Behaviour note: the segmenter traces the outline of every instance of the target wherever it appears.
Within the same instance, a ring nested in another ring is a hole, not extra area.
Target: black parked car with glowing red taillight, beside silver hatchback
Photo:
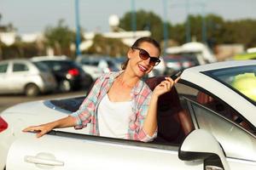
[[[61,92],[68,92],[80,88],[88,89],[93,82],[92,77],[73,60],[66,56],[42,56],[33,57],[35,63],[47,65],[58,82]]]

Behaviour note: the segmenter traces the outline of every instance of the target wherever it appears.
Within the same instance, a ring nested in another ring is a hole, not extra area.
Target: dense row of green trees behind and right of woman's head
[[[139,10],[137,16],[137,30],[149,30],[158,41],[163,41],[163,21],[157,14]],[[172,26],[167,23],[168,37],[179,44],[186,42],[187,20]],[[235,20],[225,21],[216,14],[207,14],[204,18],[201,15],[189,15],[190,35],[196,41],[203,41],[203,26],[207,42],[210,46],[219,43],[242,43],[245,47],[256,45],[256,20]],[[131,31],[131,12],[126,13],[120,19],[120,27]]]

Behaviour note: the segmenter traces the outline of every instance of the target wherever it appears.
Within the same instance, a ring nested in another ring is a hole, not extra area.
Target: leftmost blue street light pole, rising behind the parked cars
[[[81,54],[80,52],[80,24],[79,24],[79,0],[75,0],[75,18],[76,18],[76,56]]]

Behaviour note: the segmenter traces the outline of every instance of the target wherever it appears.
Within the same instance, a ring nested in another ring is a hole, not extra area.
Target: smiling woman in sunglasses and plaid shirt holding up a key
[[[26,127],[23,132],[43,136],[54,128],[83,128],[111,138],[153,140],[157,133],[157,101],[178,81],[166,77],[152,92],[141,79],[160,63],[160,45],[150,37],[137,39],[127,53],[123,71],[99,77],[79,111],[55,122]]]

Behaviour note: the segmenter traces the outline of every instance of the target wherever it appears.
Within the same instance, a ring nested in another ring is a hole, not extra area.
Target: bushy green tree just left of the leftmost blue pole
[[[47,45],[54,48],[55,54],[72,54],[70,45],[75,42],[75,32],[65,25],[64,20],[59,20],[56,27],[48,26],[44,35]]]

